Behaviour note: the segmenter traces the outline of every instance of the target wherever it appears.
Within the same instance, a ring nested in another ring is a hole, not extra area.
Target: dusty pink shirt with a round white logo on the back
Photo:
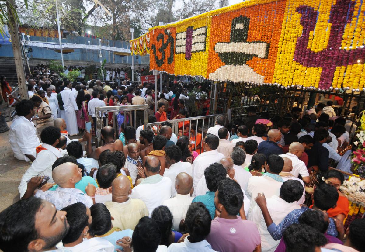
[[[261,244],[260,233],[254,222],[216,217],[212,220],[210,233],[206,238],[212,249],[220,252],[252,252]]]

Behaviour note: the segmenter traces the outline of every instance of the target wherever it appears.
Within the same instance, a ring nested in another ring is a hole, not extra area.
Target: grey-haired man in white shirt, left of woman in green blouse
[[[242,164],[245,163],[246,153],[240,147],[234,147],[231,152],[231,158],[233,159],[234,177],[241,189],[246,191],[249,179],[252,177],[251,173],[242,167]]]

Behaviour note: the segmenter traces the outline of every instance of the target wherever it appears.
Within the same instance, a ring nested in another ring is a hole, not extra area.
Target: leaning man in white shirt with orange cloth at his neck
[[[24,173],[18,187],[20,198],[27,190],[27,181],[35,176],[49,176],[49,183],[53,183],[52,165],[54,161],[66,154],[65,150],[55,148],[59,143],[61,133],[56,127],[47,127],[41,132],[42,146],[37,149],[37,158]]]

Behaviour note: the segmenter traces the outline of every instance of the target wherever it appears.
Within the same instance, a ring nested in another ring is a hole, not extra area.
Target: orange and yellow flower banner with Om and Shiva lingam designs
[[[247,0],[153,27],[145,46],[150,69],[213,81],[364,88],[361,7],[362,0]]]

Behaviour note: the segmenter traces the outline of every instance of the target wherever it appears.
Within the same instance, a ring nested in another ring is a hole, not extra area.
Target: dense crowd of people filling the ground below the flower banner
[[[9,142],[15,158],[31,165],[20,201],[0,213],[0,249],[365,251],[365,219],[343,227],[349,201],[338,170],[351,168],[351,132],[330,102],[283,118],[252,106],[240,125],[217,115],[207,131],[186,121],[176,135],[168,118],[191,114],[185,102],[194,87],[197,99],[207,97],[207,83],[170,83],[154,111],[158,92],[149,84],[30,79]],[[138,111],[95,115],[95,107],[128,104],[150,105],[148,121],[161,125],[144,128]],[[93,130],[82,126],[94,127],[96,116],[107,126],[103,145],[93,148]],[[134,118],[138,128],[130,126]],[[79,129],[82,137],[70,139]],[[338,170],[329,168],[334,163]],[[312,171],[323,175],[318,184]]]

